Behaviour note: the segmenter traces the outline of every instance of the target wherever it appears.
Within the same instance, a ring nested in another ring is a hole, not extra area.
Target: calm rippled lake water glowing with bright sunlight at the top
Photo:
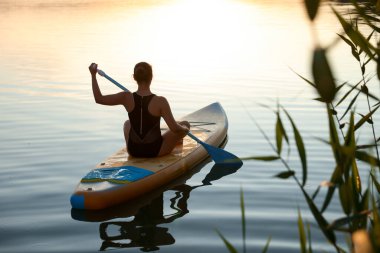
[[[246,161],[196,187],[212,171],[208,163],[171,190],[107,212],[76,212],[69,198],[88,170],[123,145],[126,113],[94,103],[91,62],[130,89],[134,64],[150,62],[152,88],[177,117],[221,102],[226,149],[238,156],[273,154],[250,117],[273,137],[275,115],[261,104],[274,109],[278,100],[305,138],[308,189],[327,180],[329,149],[314,138],[327,138],[324,108],[292,72],[310,77],[313,41],[302,1],[1,0],[0,16],[1,252],[227,252],[216,229],[242,249],[240,189],[248,250],[261,251],[271,237],[270,252],[299,252],[297,208],[314,222],[295,183],[273,178],[284,170],[275,162]],[[328,6],[315,29],[324,45],[336,37]],[[359,80],[343,43],[329,56],[339,80]],[[99,83],[104,93],[118,91]],[[290,158],[300,173],[295,149]],[[339,214],[337,203],[327,212]],[[333,250],[318,229],[312,233],[315,249]]]

